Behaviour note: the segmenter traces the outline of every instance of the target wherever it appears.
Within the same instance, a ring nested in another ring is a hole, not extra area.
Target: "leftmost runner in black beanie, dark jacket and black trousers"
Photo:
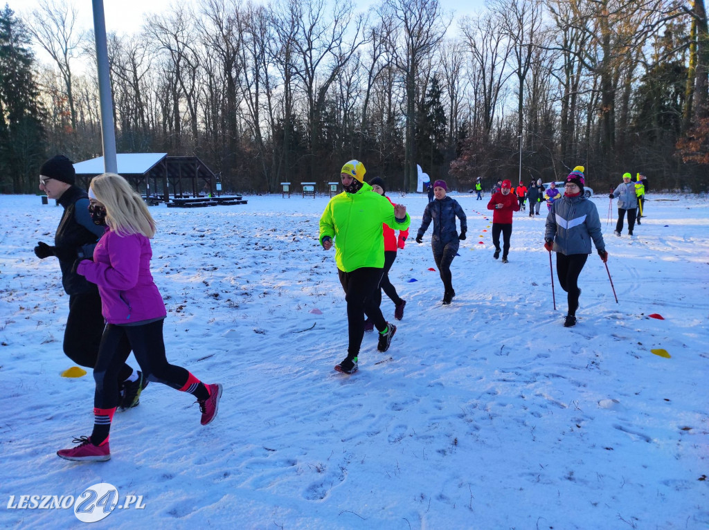
[[[74,261],[91,259],[94,247],[106,229],[97,225],[89,213],[89,196],[74,186],[76,173],[72,162],[58,154],[40,169],[40,190],[55,199],[64,215],[57,227],[54,245],[38,242],[35,255],[40,259],[56,256],[62,269],[62,286],[69,295],[69,317],[64,331],[64,353],[75,363],[94,368],[99,354],[101,335],[104,334],[104,317],[101,315],[101,296],[96,284],[77,274]],[[123,408],[138,405],[143,390],[143,374],[123,363],[118,375],[123,391]],[[130,402],[128,402],[130,400]]]

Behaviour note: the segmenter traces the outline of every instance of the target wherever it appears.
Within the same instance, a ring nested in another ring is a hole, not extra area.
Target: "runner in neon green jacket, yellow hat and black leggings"
[[[406,206],[392,207],[386,197],[369,193],[372,186],[364,182],[364,164],[350,160],[340,171],[342,188],[339,195],[330,199],[320,217],[320,244],[330,250],[335,244],[335,263],[347,301],[347,326],[350,343],[347,357],[335,366],[343,373],[357,371],[359,346],[364,337],[364,315],[379,331],[379,351],[386,351],[396,326],[386,322],[374,303],[374,292],[384,272],[384,234],[381,224],[394,230],[406,230],[411,217]]]

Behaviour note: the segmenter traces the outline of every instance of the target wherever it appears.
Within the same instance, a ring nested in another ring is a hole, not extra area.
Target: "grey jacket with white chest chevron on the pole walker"
[[[562,196],[554,201],[544,239],[554,239],[554,252],[565,256],[591,254],[591,239],[598,252],[605,251],[598,210],[583,196]]]

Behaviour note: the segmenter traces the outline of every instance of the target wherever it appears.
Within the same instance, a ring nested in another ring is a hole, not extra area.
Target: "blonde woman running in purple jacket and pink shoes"
[[[165,359],[165,306],[150,274],[150,238],[155,234],[155,221],[143,199],[122,176],[107,173],[91,181],[89,203],[92,213],[105,209],[108,225],[96,244],[94,260],[77,264],[77,273],[99,287],[106,319],[94,367],[94,430],[91,436],[75,439],[78,446],[57,451],[57,455],[67,460],[106,461],[111,458],[108,434],[118,405],[116,371],[131,350],[147,380],[196,397],[203,425],[216,416],[222,385],[205,385]]]

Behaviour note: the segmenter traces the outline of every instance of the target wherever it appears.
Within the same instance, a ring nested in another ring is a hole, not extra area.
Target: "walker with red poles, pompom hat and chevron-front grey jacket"
[[[547,215],[544,247],[557,253],[557,276],[566,291],[568,310],[565,327],[576,325],[579,308],[579,275],[591,254],[591,239],[603,263],[608,260],[596,205],[584,197],[584,174],[571,171],[566,177],[564,196],[554,201]]]

